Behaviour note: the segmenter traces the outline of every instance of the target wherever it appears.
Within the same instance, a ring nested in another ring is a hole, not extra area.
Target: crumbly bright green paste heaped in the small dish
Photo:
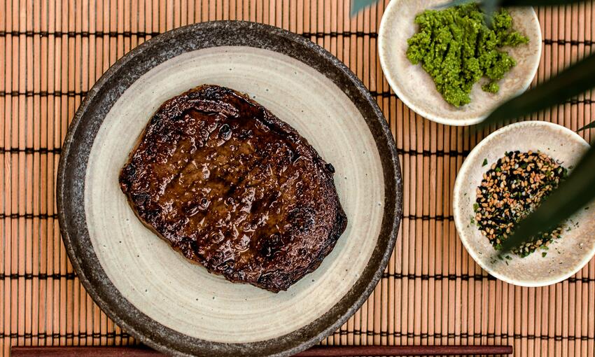
[[[407,58],[412,64],[421,63],[437,91],[454,106],[468,104],[473,84],[484,76],[489,83],[482,89],[498,92],[498,80],[517,64],[501,48],[529,41],[512,30],[512,18],[505,9],[493,15],[490,29],[475,3],[426,10],[415,23],[419,32],[407,40]]]

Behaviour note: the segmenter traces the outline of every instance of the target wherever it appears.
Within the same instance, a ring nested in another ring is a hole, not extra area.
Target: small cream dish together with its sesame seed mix
[[[507,283],[547,286],[587,265],[595,255],[595,202],[520,250],[500,257],[497,249],[512,231],[506,226],[538,205],[527,202],[547,197],[588,149],[572,130],[540,121],[507,125],[473,148],[452,197],[456,231],[479,266]]]

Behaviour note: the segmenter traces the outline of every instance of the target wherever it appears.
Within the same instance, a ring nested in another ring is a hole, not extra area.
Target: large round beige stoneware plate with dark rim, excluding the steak
[[[321,267],[287,291],[192,264],[120,191],[120,169],[158,106],[202,84],[248,94],[336,169],[349,224]],[[80,281],[134,337],[171,354],[289,356],[339,328],[372,292],[395,244],[402,185],[386,120],[342,62],[275,27],[208,22],[152,38],[97,81],[66,136],[57,200]]]

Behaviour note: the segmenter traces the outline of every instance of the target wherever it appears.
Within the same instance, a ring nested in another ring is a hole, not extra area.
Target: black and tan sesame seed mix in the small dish
[[[483,165],[487,165],[486,160]],[[475,217],[471,223],[477,223],[482,235],[500,249],[514,224],[538,207],[567,174],[566,168],[544,153],[505,153],[484,173],[482,184],[477,187]],[[526,257],[537,248],[546,250],[554,239],[561,237],[561,232],[562,227],[557,227],[541,233],[512,252]]]

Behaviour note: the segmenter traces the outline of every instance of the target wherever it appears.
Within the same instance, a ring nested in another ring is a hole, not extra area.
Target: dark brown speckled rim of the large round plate
[[[377,244],[363,274],[329,311],[304,327],[261,342],[210,342],[167,328],[143,314],[113,286],[95,255],[87,231],[84,191],[87,160],[99,127],[120,95],[142,74],[183,52],[222,45],[248,45],[281,52],[332,80],[358,107],[376,140],[384,173],[384,216]],[[372,293],[391,257],[402,217],[400,165],[391,130],[370,92],[342,62],[307,38],[244,21],[202,22],[155,36],[113,64],[89,90],[62,146],[57,208],[66,252],[94,302],[120,327],[159,351],[177,355],[290,356],[337,330]]]

